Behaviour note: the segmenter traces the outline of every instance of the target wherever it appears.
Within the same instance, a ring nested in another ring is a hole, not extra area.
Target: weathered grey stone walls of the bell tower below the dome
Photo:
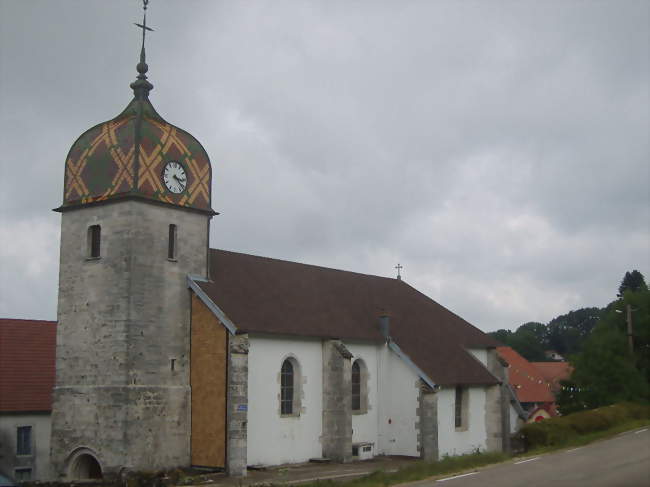
[[[169,224],[178,228],[175,260],[167,258]],[[206,274],[208,224],[209,216],[141,201],[62,214],[56,478],[79,448],[104,473],[189,464],[185,276]],[[101,226],[100,258],[88,256],[91,225]]]

